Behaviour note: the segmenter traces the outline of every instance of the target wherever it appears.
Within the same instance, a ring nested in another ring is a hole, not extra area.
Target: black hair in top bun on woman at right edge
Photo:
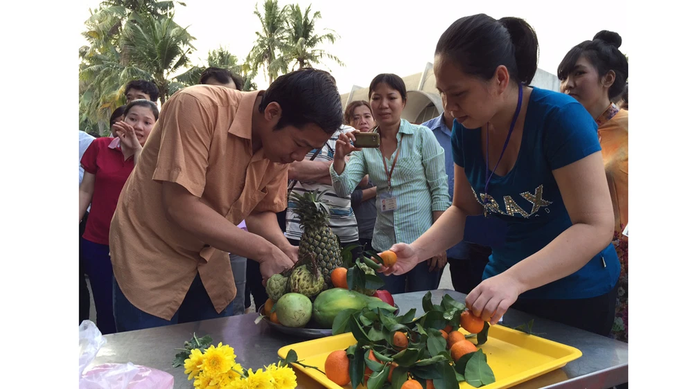
[[[557,75],[559,80],[568,78],[575,68],[575,63],[584,56],[597,69],[600,78],[608,71],[616,75],[613,84],[608,89],[608,98],[613,100],[623,93],[628,80],[628,60],[618,49],[621,46],[621,36],[612,31],[602,30],[591,41],[585,41],[568,51],[559,64]]]

